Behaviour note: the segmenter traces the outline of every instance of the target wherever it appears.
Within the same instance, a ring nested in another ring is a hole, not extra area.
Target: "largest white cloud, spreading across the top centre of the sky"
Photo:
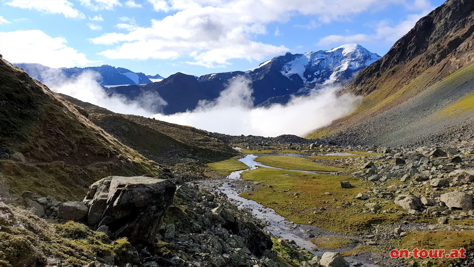
[[[94,44],[118,44],[100,55],[117,59],[169,59],[191,56],[191,64],[230,65],[233,58],[263,60],[289,49],[255,41],[266,25],[287,22],[294,15],[313,15],[321,23],[347,20],[351,15],[385,5],[382,1],[149,1],[155,11],[177,10],[150,27],[120,25],[129,33],[106,33]],[[316,22],[315,22],[316,23]]]

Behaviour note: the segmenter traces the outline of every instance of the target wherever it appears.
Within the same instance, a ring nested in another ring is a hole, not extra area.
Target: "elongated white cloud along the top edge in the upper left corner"
[[[50,14],[63,14],[66,18],[85,19],[85,15],[77,9],[73,9],[73,3],[67,0],[12,0],[6,5]]]

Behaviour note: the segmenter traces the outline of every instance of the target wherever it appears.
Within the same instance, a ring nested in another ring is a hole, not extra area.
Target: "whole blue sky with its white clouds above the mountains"
[[[2,0],[0,54],[146,75],[245,70],[286,52],[358,43],[385,54],[438,0]]]

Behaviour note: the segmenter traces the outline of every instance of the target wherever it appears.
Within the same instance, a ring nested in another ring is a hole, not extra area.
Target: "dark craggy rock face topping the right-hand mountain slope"
[[[418,68],[424,70],[441,62],[453,51],[462,54],[469,45],[461,46],[472,38],[474,2],[470,0],[448,0],[437,9],[421,18],[413,29],[400,38],[380,60],[362,70],[346,87],[346,91],[367,94],[376,87],[368,86],[371,78],[391,68],[422,56]],[[416,75],[410,72],[407,78]]]

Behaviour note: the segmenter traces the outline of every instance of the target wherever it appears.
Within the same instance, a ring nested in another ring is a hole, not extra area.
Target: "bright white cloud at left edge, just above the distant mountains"
[[[57,68],[86,66],[91,62],[66,43],[66,39],[52,38],[41,30],[0,32],[0,53],[12,63],[40,63]]]

